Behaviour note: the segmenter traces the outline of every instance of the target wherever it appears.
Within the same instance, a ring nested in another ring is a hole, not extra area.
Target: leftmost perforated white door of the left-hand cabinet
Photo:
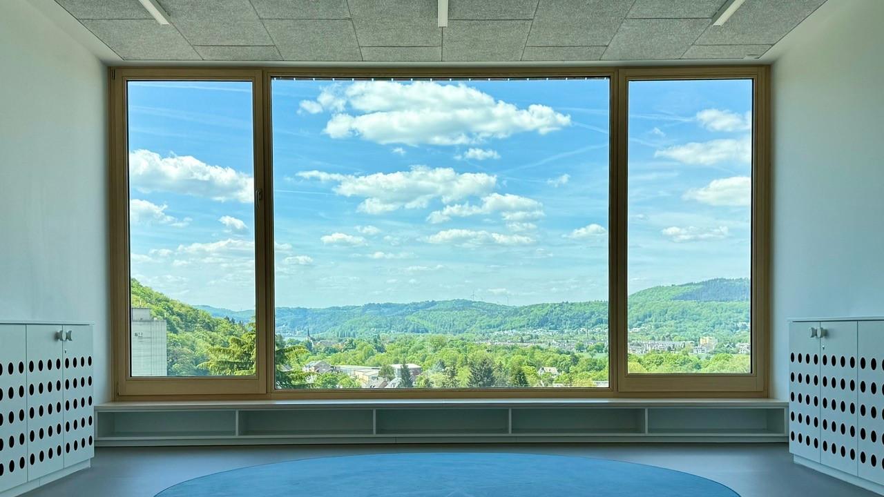
[[[25,326],[0,325],[0,493],[27,483]]]

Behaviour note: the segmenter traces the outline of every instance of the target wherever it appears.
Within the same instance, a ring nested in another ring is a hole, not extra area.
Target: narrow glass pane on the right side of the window
[[[751,80],[629,83],[629,372],[751,370]]]

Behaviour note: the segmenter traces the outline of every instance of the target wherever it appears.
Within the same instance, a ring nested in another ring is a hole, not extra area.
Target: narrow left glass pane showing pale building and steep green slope
[[[132,376],[255,374],[252,83],[128,84]]]

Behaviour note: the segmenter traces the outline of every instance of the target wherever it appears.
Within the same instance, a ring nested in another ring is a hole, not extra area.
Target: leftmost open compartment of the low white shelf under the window
[[[184,439],[232,437],[235,410],[99,411],[100,439]]]

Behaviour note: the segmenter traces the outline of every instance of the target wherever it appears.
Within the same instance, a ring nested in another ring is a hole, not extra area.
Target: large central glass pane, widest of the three
[[[278,388],[607,386],[608,80],[274,80]]]

